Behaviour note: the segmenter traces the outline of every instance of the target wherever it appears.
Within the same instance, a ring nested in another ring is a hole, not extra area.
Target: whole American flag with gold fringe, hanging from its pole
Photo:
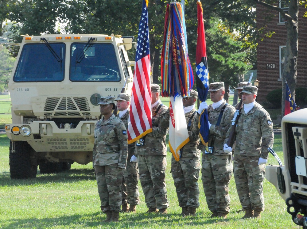
[[[128,120],[128,143],[133,143],[152,132],[150,55],[148,29],[148,1],[143,0],[142,15],[138,29],[138,43],[135,54],[134,81]]]

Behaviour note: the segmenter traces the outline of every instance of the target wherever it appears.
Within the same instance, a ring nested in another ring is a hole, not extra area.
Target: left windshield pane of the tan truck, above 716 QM
[[[63,81],[65,66],[65,44],[50,43],[60,57],[58,61],[46,44],[25,44],[14,74],[14,82]]]

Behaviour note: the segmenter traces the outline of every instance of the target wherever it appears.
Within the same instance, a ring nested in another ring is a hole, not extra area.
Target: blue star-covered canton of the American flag
[[[148,12],[146,2],[143,1],[142,15],[140,26],[138,28],[138,43],[135,55],[135,61],[149,55],[149,29],[148,29]]]

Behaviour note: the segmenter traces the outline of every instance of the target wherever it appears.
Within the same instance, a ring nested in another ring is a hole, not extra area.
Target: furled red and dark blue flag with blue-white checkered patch
[[[197,2],[197,44],[196,44],[196,89],[200,101],[206,101],[208,94],[209,71],[207,65],[206,38],[201,2]],[[204,109],[199,118],[199,136],[204,146],[208,146],[209,126],[208,110]]]

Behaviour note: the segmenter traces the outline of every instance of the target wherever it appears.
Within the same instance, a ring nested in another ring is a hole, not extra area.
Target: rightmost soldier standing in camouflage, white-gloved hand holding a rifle
[[[255,103],[257,87],[244,86],[243,108],[235,128],[234,177],[237,192],[245,211],[243,219],[260,218],[264,210],[262,182],[265,177],[265,164],[268,148],[273,146],[273,124],[269,113]],[[227,141],[224,151],[231,151]]]

